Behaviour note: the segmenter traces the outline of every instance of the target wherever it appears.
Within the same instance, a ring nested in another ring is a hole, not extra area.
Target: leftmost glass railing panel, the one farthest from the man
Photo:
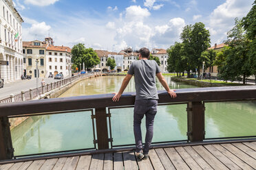
[[[94,148],[92,110],[10,118],[14,156]]]

